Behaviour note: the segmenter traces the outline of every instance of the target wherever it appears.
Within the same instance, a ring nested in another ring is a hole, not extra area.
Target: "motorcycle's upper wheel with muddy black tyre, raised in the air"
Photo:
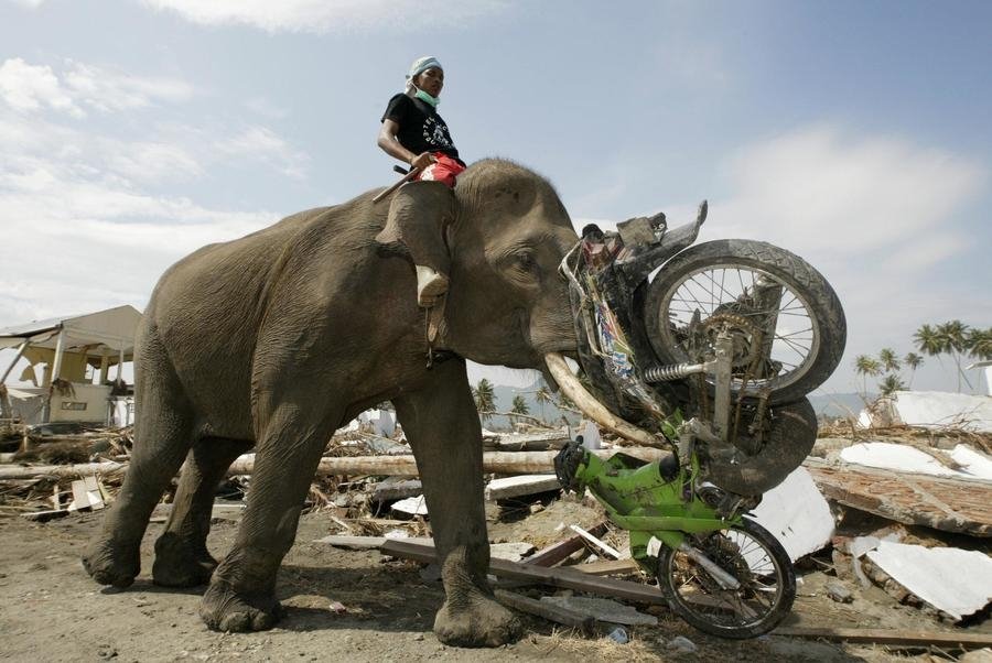
[[[756,305],[756,284],[780,286],[770,304]],[[692,328],[712,318],[757,323],[775,316],[770,348],[762,349],[765,374],[747,391],[770,389],[772,403],[788,403],[823,383],[840,362],[847,322],[837,293],[805,260],[766,242],[718,240],[691,247],[667,262],[648,286],[644,319],[648,339],[666,363],[696,362]],[[714,317],[720,316],[720,317]],[[769,325],[770,326],[770,325]],[[740,333],[737,347],[750,343]],[[740,390],[742,367],[735,367]]]

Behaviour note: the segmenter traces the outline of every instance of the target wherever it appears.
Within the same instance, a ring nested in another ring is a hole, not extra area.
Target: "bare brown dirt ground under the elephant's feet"
[[[572,510],[574,515],[574,508]],[[492,522],[490,539],[521,534],[544,541],[561,513],[554,503],[515,524]],[[587,518],[595,518],[590,513]],[[97,531],[101,513],[74,514],[45,524],[0,519],[0,657],[13,661],[889,661],[947,660],[936,652],[892,652],[880,646],[844,646],[768,635],[732,642],[707,637],[667,610],[654,608],[657,627],[627,628],[630,641],[585,637],[524,617],[526,634],[496,650],[442,645],[431,632],[443,599],[440,583],[424,580],[421,565],[378,552],[338,550],[314,540],[336,533],[326,512],[301,519],[296,544],[279,575],[278,594],[287,615],[260,633],[216,633],[197,616],[200,590],[152,585],[152,544],[161,523],[144,539],[142,573],[126,590],[101,588],[84,573],[79,555]],[[584,519],[580,519],[584,520]],[[573,521],[574,522],[574,521]],[[526,526],[524,526],[526,523]],[[586,523],[589,524],[589,523]],[[521,530],[521,526],[524,528]],[[216,556],[234,540],[231,520],[215,520],[209,546]],[[520,540],[519,537],[516,540]],[[533,541],[533,543],[544,543]],[[949,630],[918,610],[855,590],[853,604],[833,602],[818,590],[813,574],[800,585],[784,626]],[[344,606],[335,611],[333,602]],[[972,627],[988,632],[986,624]],[[672,652],[675,637],[690,639],[694,654]]]

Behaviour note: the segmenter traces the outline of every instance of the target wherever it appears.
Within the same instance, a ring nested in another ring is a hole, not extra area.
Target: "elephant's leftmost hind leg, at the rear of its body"
[[[97,583],[116,587],[129,586],[141,569],[148,519],[192,444],[192,410],[154,329],[144,340],[128,474],[100,533],[83,556],[83,566]]]

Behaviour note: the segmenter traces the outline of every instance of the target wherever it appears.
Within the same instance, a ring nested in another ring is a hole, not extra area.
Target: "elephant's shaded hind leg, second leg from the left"
[[[217,562],[207,552],[206,537],[211,531],[217,482],[234,459],[252,444],[205,437],[193,445],[183,466],[165,531],[155,541],[152,567],[155,585],[195,587],[209,582]]]

